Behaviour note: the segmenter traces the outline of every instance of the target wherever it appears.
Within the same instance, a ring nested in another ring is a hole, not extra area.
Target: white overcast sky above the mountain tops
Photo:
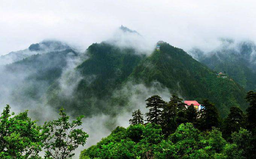
[[[210,49],[256,40],[255,0],[0,0],[0,55],[58,39],[86,49],[123,24],[151,42]]]

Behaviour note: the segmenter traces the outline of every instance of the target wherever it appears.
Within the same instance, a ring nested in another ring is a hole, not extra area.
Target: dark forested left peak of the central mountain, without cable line
[[[58,85],[50,89],[49,104],[60,107],[67,105],[79,110],[75,113],[92,115],[97,113],[115,114],[124,107],[122,97],[113,98],[113,92],[120,89],[145,55],[136,54],[135,49],[120,49],[112,44],[94,43],[86,51],[88,59],[77,66],[82,76],[74,88],[72,99],[59,96]],[[58,90],[58,91],[56,91]]]

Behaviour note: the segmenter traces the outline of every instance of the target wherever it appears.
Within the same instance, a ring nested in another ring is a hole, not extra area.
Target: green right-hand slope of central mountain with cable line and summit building
[[[147,84],[159,81],[187,100],[201,102],[207,98],[216,104],[222,116],[232,106],[240,105],[243,110],[247,107],[242,87],[230,79],[218,78],[207,66],[168,43],[161,44],[160,51],[140,63],[130,77]]]

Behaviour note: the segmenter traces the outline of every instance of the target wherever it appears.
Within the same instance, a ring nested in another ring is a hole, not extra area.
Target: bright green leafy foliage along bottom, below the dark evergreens
[[[129,129],[136,129],[139,125],[131,125]],[[143,125],[139,127],[144,127]],[[127,133],[130,130],[127,128]],[[139,132],[141,133],[141,132]],[[176,131],[164,139],[161,127],[148,123],[145,125],[142,138],[133,142],[130,138],[112,140],[108,144],[97,144],[83,150],[80,159],[88,158],[140,158],[140,159],[228,159],[242,156],[242,151],[236,144],[229,144],[222,137],[219,129],[212,129],[206,134],[191,123],[180,124]],[[106,138],[112,138],[113,132]],[[129,135],[124,135],[129,136]],[[102,142],[102,140],[100,141]],[[100,143],[99,142],[99,143]],[[232,150],[238,150],[232,152]]]

